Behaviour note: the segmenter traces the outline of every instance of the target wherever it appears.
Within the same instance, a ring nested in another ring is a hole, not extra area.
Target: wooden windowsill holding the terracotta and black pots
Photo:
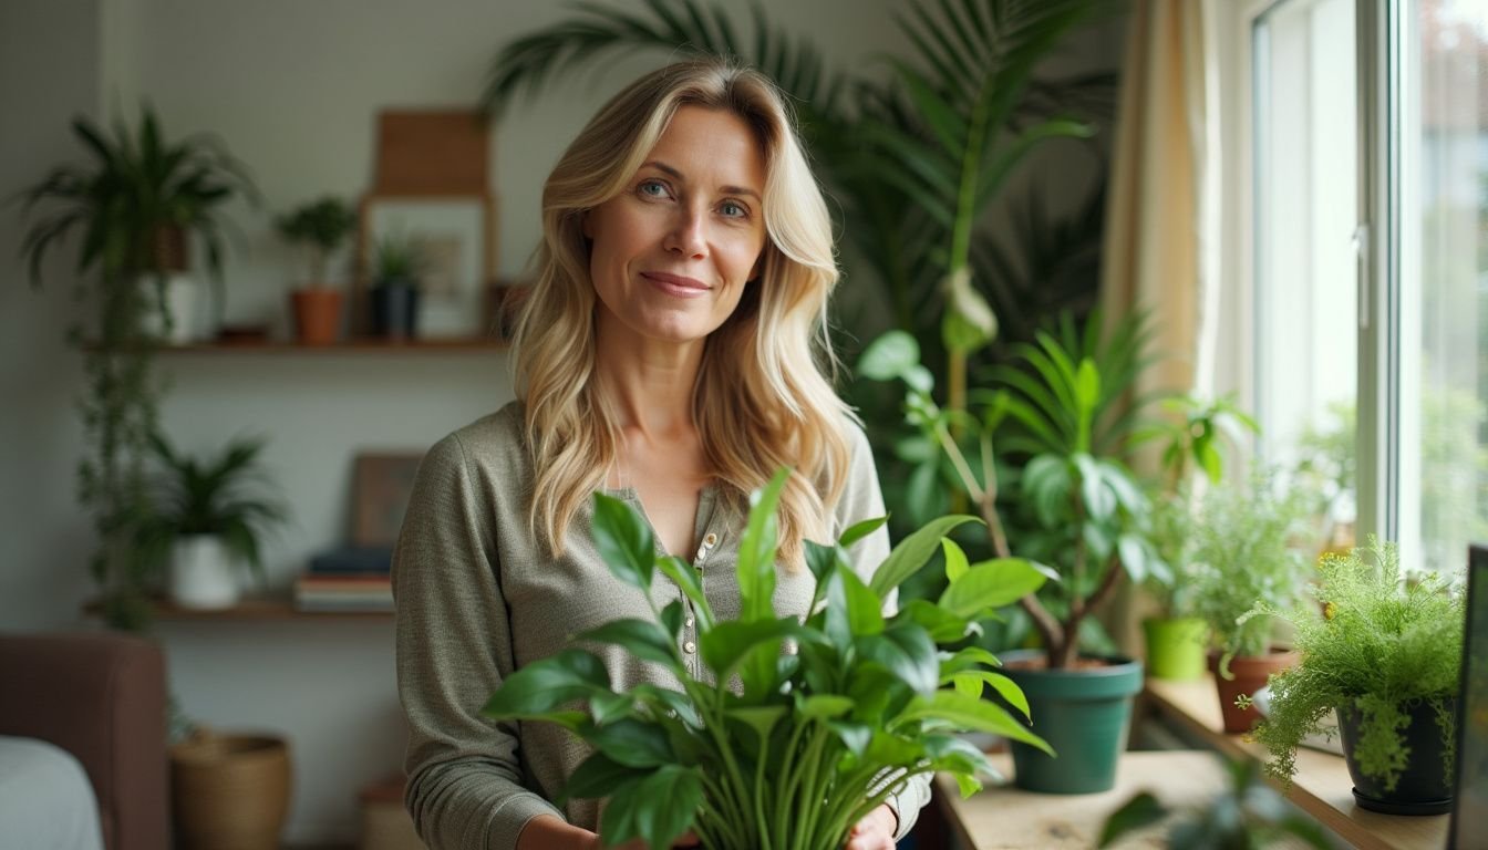
[[[1147,680],[1149,710],[1231,758],[1265,759],[1265,750],[1241,735],[1226,735],[1219,697],[1210,676],[1193,682]],[[1344,758],[1312,749],[1298,750],[1298,776],[1287,793],[1298,808],[1360,850],[1437,850],[1446,846],[1446,814],[1397,816],[1366,811],[1354,804],[1354,783]]]

